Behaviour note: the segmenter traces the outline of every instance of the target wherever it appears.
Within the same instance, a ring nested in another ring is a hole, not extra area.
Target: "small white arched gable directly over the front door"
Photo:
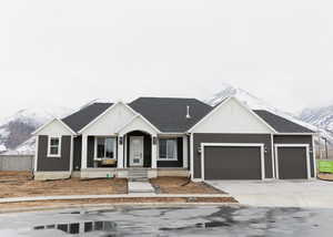
[[[141,115],[137,115],[131,122],[123,126],[119,131],[119,134],[124,135],[133,131],[141,131],[153,135],[157,135],[157,133],[159,132],[155,127],[149,124],[149,122],[145,121]]]

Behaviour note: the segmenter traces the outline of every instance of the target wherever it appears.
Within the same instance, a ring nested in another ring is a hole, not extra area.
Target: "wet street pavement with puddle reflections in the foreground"
[[[332,236],[333,209],[117,207],[0,215],[0,236]]]

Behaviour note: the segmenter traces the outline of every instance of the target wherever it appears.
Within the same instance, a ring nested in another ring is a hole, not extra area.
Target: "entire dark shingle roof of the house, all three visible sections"
[[[62,122],[79,132],[112,105],[93,103],[64,117]],[[196,99],[182,97],[139,97],[128,105],[163,133],[184,133],[214,109]],[[186,106],[190,106],[191,118],[186,118]],[[253,112],[279,133],[314,133],[269,111]]]

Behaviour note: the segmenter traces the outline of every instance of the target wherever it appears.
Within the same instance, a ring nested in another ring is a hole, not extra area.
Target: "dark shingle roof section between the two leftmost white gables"
[[[94,103],[90,104],[82,110],[64,117],[62,121],[71,127],[74,132],[79,132],[87,124],[102,114],[108,107],[110,107],[111,103]]]

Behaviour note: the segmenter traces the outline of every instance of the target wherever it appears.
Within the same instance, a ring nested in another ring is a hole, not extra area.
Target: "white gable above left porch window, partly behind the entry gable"
[[[137,114],[123,103],[117,103],[90,124],[82,134],[108,136],[129,123]]]

